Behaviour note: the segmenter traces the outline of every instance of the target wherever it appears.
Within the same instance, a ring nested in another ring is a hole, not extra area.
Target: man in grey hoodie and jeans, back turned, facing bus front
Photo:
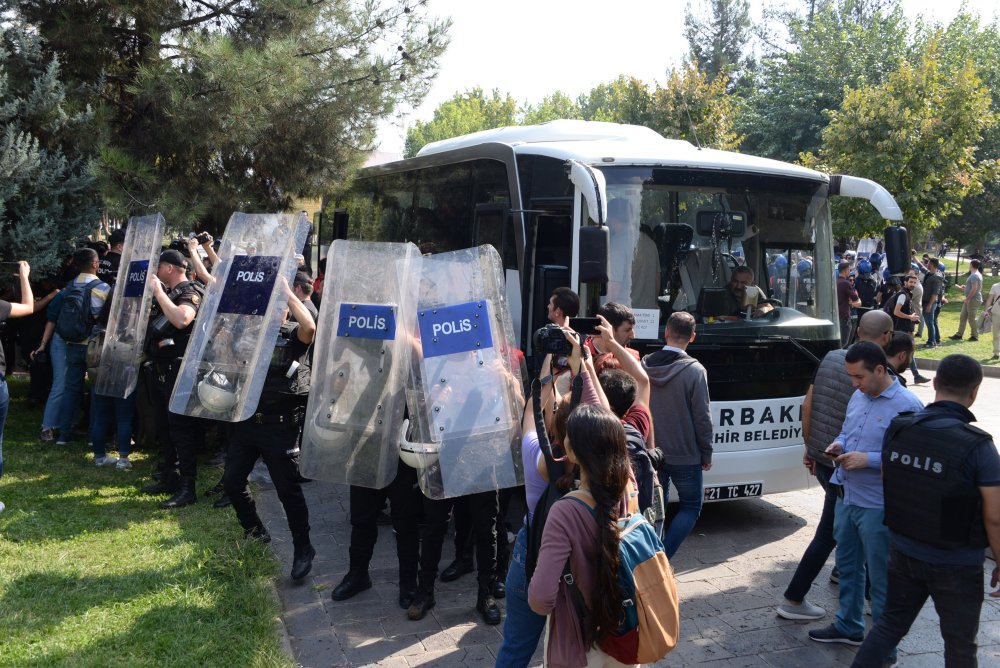
[[[656,445],[663,451],[659,471],[663,496],[667,497],[672,480],[680,499],[680,510],[663,538],[670,558],[701,515],[702,472],[712,468],[708,376],[705,367],[686,352],[694,341],[694,330],[690,313],[674,313],[663,334],[667,345],[642,359],[650,381],[649,407]]]

